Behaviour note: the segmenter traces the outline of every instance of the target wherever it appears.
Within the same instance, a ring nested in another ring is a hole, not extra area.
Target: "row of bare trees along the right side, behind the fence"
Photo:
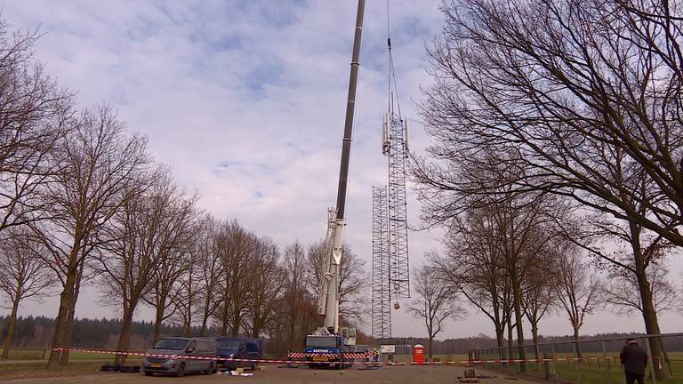
[[[421,104],[433,140],[413,166],[425,227],[447,232],[417,275],[444,284],[419,292],[428,328],[458,295],[490,318],[499,347],[517,339],[521,358],[523,324],[536,341],[552,311],[575,339],[599,303],[660,333],[680,292],[666,260],[683,245],[683,4],[441,9]],[[659,338],[651,347],[663,355]]]

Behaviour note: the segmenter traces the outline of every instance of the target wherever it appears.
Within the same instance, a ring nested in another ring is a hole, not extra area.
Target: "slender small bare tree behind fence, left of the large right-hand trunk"
[[[572,244],[565,244],[559,250],[558,272],[558,301],[565,309],[569,323],[572,324],[574,340],[578,341],[583,320],[591,315],[599,302],[598,280],[591,276],[581,253]],[[580,358],[582,355],[578,343],[575,343],[575,348]]]

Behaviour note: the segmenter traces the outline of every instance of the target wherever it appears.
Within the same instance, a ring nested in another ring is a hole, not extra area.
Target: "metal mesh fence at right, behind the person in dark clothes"
[[[646,380],[683,384],[683,333],[474,349],[470,360],[486,369],[550,381],[621,384],[624,374],[619,354],[628,339],[636,340],[647,351]]]

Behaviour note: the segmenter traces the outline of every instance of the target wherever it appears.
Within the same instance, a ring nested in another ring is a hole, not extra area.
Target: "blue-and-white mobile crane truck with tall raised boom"
[[[327,233],[325,235],[325,256],[322,266],[323,278],[317,300],[317,312],[325,315],[324,326],[319,327],[306,337],[305,361],[311,367],[329,365],[342,369],[352,364],[356,350],[356,328],[339,327],[339,285],[342,265],[342,231],[344,228],[344,208],[349,176],[351,152],[351,132],[353,130],[353,113],[356,103],[358,84],[358,67],[360,66],[360,40],[363,32],[363,16],[365,0],[358,0],[356,30],[353,39],[351,69],[349,80],[349,97],[346,104],[346,119],[342,140],[342,164],[339,171],[336,208],[330,208],[327,217]]]

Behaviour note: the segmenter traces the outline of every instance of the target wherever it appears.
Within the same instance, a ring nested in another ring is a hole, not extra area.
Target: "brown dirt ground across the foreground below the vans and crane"
[[[482,379],[481,384],[530,384],[527,380],[505,379],[499,373],[477,370],[478,375],[497,376],[495,379]],[[389,366],[373,371],[363,371],[350,368],[342,371],[312,370],[309,368],[277,368],[276,365],[267,365],[264,370],[254,372],[252,377],[234,377],[223,374],[189,375],[184,378],[175,377],[145,377],[142,373],[109,373],[98,372],[93,374],[77,375],[72,377],[54,377],[42,379],[10,380],[12,384],[40,383],[40,384],[79,384],[79,383],[349,383],[354,384],[395,384],[404,383],[433,383],[453,384],[458,383],[457,377],[463,376],[462,367],[454,366]]]

